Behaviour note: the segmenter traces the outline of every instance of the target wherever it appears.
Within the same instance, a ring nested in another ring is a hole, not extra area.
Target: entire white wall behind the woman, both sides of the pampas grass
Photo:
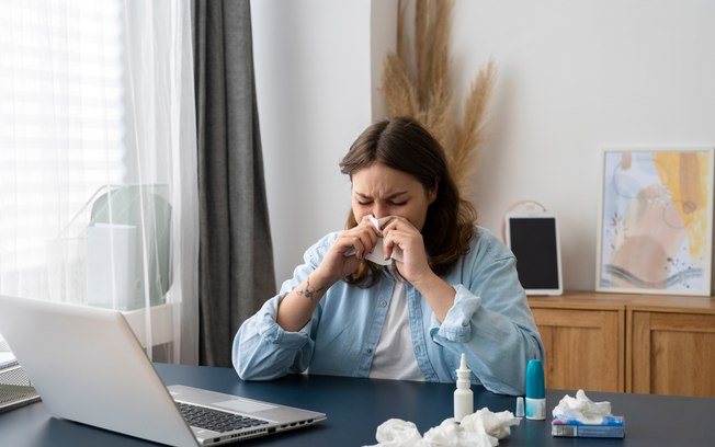
[[[344,224],[349,183],[337,163],[382,116],[375,89],[395,2],[251,5],[280,283]],[[511,205],[537,200],[559,217],[566,288],[593,289],[600,148],[715,144],[713,18],[706,0],[457,0],[456,92],[489,57],[499,68],[473,197],[481,225],[500,233]]]

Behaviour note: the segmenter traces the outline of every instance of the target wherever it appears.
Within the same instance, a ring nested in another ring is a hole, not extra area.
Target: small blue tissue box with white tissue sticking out
[[[625,420],[611,414],[611,402],[593,402],[583,390],[578,390],[576,398],[566,394],[554,408],[553,415],[552,436],[624,436]]]

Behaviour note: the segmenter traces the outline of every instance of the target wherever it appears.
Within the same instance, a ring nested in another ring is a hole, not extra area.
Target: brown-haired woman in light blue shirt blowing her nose
[[[543,345],[515,260],[475,225],[440,144],[410,118],[387,119],[363,131],[340,168],[352,182],[348,229],[309,248],[241,325],[239,377],[309,369],[454,382],[465,353],[473,382],[523,394],[526,364]],[[381,247],[388,266],[366,260]]]

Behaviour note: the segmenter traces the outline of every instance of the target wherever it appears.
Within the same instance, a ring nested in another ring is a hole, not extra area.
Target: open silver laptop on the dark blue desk
[[[171,446],[230,443],[326,419],[238,396],[166,387],[118,311],[2,295],[0,309],[0,333],[55,416]],[[230,421],[218,428],[184,420],[195,412]]]

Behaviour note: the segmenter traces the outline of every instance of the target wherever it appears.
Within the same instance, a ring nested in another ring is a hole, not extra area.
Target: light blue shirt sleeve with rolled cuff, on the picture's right
[[[432,341],[452,358],[465,353],[475,378],[490,391],[523,394],[526,364],[543,358],[544,349],[513,254],[483,231],[462,270],[447,279],[456,295],[444,321],[432,321]]]

